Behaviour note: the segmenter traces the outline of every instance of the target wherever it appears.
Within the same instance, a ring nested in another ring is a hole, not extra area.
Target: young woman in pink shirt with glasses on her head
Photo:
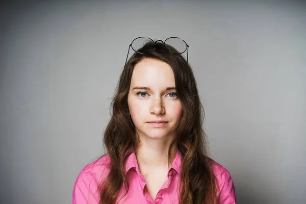
[[[236,203],[230,173],[208,157],[197,85],[182,52],[166,41],[149,39],[140,49],[133,42],[105,131],[107,154],[80,172],[72,204]]]

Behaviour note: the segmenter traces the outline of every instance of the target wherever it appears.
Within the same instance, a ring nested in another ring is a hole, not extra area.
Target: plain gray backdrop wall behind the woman
[[[70,203],[138,36],[178,36],[238,203],[305,203],[302,1],[1,3],[1,203]]]

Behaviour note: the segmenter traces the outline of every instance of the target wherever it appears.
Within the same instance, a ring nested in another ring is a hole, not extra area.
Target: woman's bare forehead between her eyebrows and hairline
[[[169,64],[155,59],[144,59],[134,67],[131,87],[175,87],[174,74]]]

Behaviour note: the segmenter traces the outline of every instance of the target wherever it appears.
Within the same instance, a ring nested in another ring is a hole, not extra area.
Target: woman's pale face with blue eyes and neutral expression
[[[165,62],[144,59],[135,65],[127,98],[139,137],[173,137],[182,116],[174,74]]]

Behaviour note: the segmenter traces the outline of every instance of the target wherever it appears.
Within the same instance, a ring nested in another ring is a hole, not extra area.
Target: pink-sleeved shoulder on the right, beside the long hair
[[[230,172],[216,161],[209,160],[218,183],[219,203],[236,203],[236,190]]]

